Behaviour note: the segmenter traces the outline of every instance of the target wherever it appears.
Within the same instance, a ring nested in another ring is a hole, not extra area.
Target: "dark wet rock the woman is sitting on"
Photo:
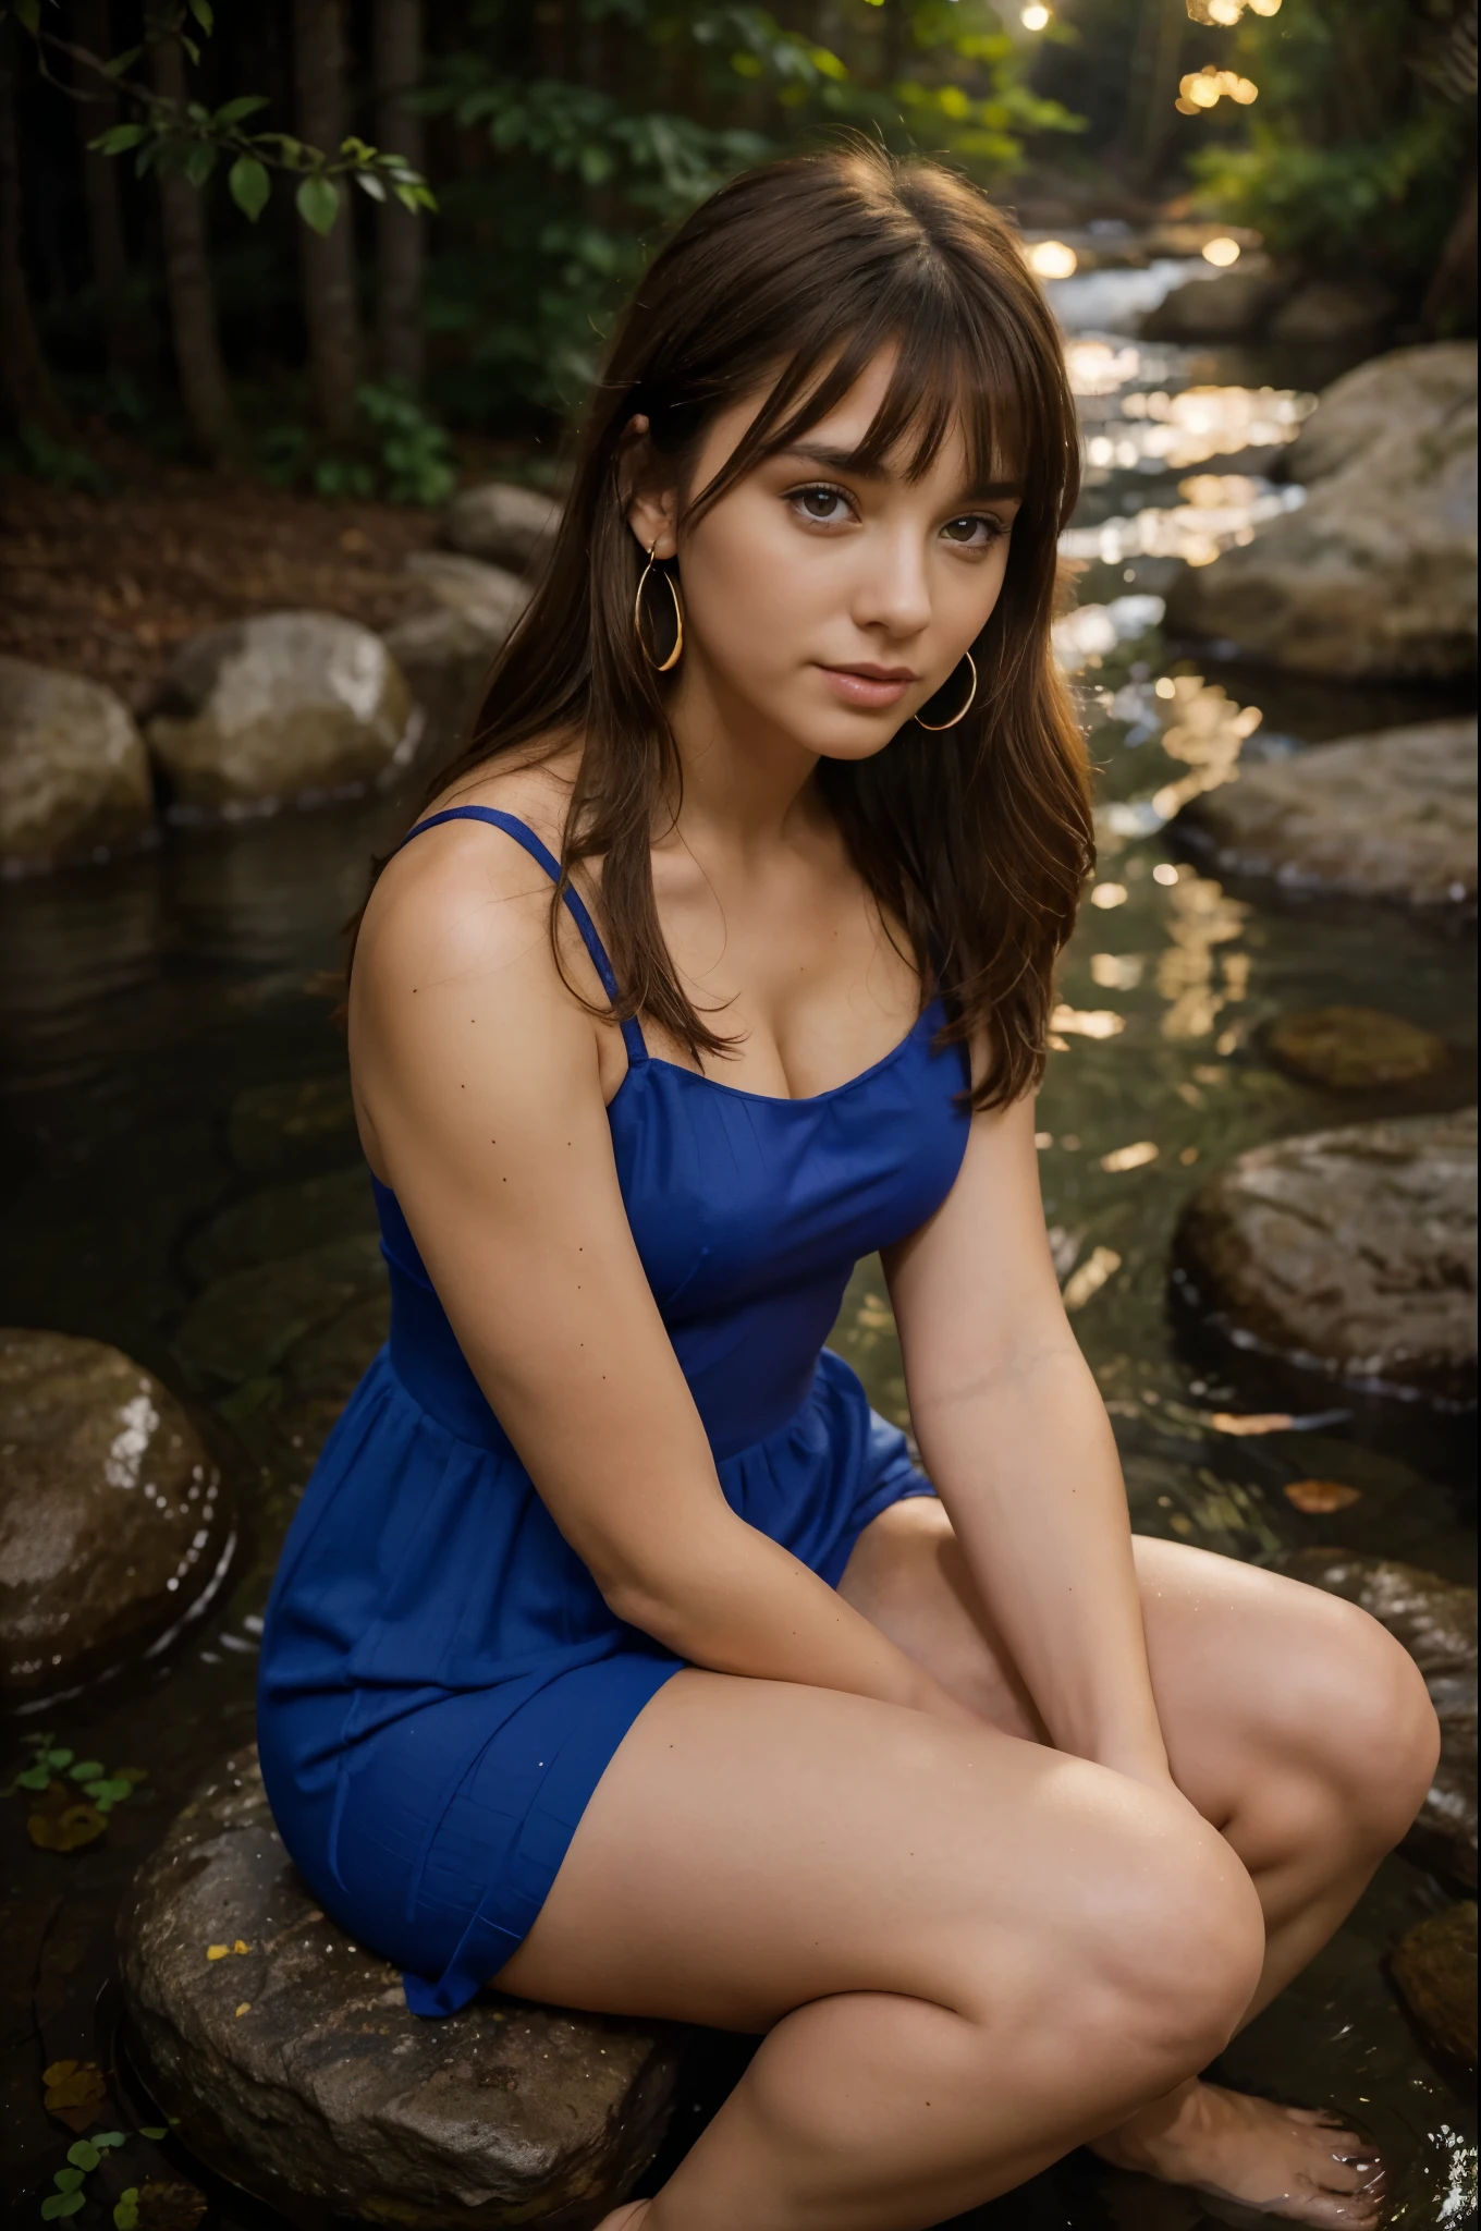
[[[178,2137],[294,2222],[587,2231],[662,2140],[656,2024],[493,1992],[417,2021],[397,1970],[314,1908],[254,1754],[145,1861],[118,1941],[132,2050]]]

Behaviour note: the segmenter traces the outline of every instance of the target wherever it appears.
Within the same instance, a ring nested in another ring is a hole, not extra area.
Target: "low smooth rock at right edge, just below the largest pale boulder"
[[[1477,723],[1423,721],[1245,765],[1178,814],[1222,875],[1410,906],[1474,906]]]

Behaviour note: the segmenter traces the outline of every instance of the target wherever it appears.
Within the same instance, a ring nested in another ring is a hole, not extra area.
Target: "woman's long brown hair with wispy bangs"
[[[502,752],[580,734],[551,935],[571,870],[600,857],[618,1015],[651,1015],[696,1057],[727,1051],[685,995],[654,904],[651,837],[680,763],[665,685],[633,636],[642,553],[625,518],[620,440],[645,413],[680,486],[683,556],[685,524],[825,417],[888,344],[894,377],[859,462],[908,446],[908,471],[923,473],[961,413],[972,473],[1019,480],[1024,504],[999,602],[972,645],[979,687],[966,721],[943,734],[908,723],[868,761],[821,761],[819,781],[859,875],[946,999],[948,1035],[990,1026],[993,1066],[975,1100],[997,1107],[1044,1069],[1053,964],[1093,861],[1084,745],[1048,640],[1080,446],[1059,337],[1013,230],[937,163],[874,147],[767,163],[720,187],[662,248],[611,341],[544,578],[493,669],[473,743],[428,801]],[[736,453],[687,493],[712,415],[767,382]]]

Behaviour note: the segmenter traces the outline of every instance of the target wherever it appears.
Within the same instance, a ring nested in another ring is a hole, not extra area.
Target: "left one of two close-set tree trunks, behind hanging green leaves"
[[[292,58],[299,138],[337,154],[346,136],[343,22],[339,0],[292,0]],[[328,234],[299,228],[308,373],[319,424],[341,440],[355,424],[359,317],[355,308],[355,223],[350,190]]]

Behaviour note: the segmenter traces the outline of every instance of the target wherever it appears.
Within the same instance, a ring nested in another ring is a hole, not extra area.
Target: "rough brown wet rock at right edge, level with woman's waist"
[[[1238,1345],[1378,1394],[1477,1394],[1477,1111],[1253,1147],[1178,1227]]]

